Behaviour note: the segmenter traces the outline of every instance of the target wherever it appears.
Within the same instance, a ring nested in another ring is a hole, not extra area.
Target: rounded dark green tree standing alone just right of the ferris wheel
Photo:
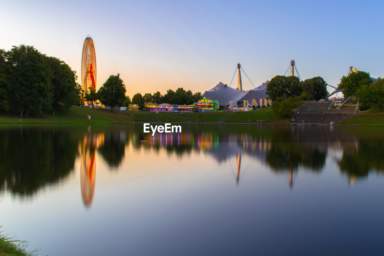
[[[126,91],[121,78],[118,75],[111,75],[98,91],[99,100],[104,105],[111,106],[111,111],[113,112],[115,106],[122,105],[124,100],[126,100]]]

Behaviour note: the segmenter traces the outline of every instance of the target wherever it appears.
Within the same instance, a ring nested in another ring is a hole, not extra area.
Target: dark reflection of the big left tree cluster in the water
[[[12,126],[0,130],[0,191],[32,196],[64,180],[78,154],[77,132],[61,126]]]

